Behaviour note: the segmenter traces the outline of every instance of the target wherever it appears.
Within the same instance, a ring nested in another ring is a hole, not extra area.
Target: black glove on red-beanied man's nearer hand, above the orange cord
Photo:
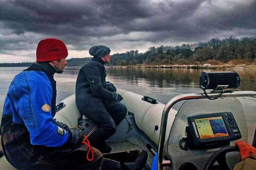
[[[83,136],[83,129],[80,129],[81,126],[78,128],[66,128],[68,132],[68,139],[65,144],[67,145],[80,145],[84,139]]]

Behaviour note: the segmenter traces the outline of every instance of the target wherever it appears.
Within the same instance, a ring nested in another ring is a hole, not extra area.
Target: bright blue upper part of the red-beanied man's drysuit
[[[13,123],[25,124],[33,145],[61,146],[68,134],[58,133],[53,122],[52,87],[44,72],[23,71],[11,82],[4,101],[3,114]],[[44,108],[42,108],[44,107]]]

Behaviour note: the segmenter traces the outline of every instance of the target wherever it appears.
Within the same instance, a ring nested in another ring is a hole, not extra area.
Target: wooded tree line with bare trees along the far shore
[[[87,58],[68,59],[68,66],[83,66],[90,61]],[[148,51],[139,53],[138,50],[113,54],[110,64],[113,66],[128,66],[140,64],[203,64],[213,65],[256,64],[256,37],[229,38],[220,40],[213,38],[208,42],[197,44],[183,44],[181,46],[150,47]],[[33,63],[0,63],[4,66],[30,66]]]

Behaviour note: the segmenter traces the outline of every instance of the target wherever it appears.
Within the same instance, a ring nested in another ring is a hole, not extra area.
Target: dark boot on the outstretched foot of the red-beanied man
[[[146,165],[148,152],[143,150],[139,157],[132,163],[120,163],[121,170],[141,170]]]

